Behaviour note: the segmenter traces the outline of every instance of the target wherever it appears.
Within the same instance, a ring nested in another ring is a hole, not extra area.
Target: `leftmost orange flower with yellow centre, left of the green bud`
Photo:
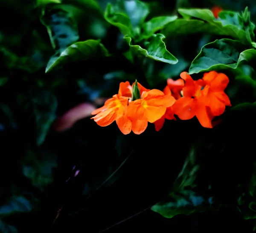
[[[116,124],[123,134],[131,133],[131,120],[127,118],[126,111],[128,106],[128,97],[113,95],[113,98],[108,99],[104,106],[92,112],[94,121],[99,126],[108,126],[116,121]]]

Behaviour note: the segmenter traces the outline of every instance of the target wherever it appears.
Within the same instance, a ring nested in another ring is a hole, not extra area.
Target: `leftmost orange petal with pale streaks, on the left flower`
[[[116,119],[116,113],[117,108],[108,108],[105,111],[101,111],[99,114],[97,114],[95,117],[92,117],[91,119],[94,119],[94,121],[99,126],[108,126],[110,125],[115,119]]]

